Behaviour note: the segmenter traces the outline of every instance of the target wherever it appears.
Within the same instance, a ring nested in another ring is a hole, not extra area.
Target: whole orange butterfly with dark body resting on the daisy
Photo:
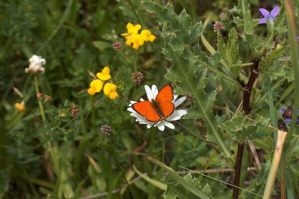
[[[132,104],[132,108],[145,116],[150,122],[161,121],[170,116],[174,111],[173,87],[171,84],[165,85],[151,101],[139,101]]]

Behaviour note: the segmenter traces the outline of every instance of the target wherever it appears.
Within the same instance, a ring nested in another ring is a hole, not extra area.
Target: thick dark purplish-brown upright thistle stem
[[[251,111],[250,108],[250,97],[251,97],[251,91],[254,85],[255,80],[259,76],[257,73],[259,71],[259,62],[260,58],[255,58],[253,62],[253,68],[248,80],[247,85],[245,85],[244,82],[241,80],[238,80],[240,82],[240,85],[244,87],[243,91],[243,110],[245,111],[245,114],[248,115]],[[240,185],[240,175],[241,175],[241,167],[242,167],[242,158],[243,158],[243,151],[244,151],[244,143],[238,144],[238,151],[237,151],[237,157],[236,157],[236,164],[235,164],[235,178],[234,178],[234,193],[233,197],[234,199],[238,199],[239,197],[239,185]]]

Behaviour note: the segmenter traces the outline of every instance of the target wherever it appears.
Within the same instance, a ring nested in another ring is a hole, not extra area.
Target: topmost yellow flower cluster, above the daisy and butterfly
[[[128,32],[121,34],[126,39],[126,44],[138,50],[140,46],[144,45],[145,41],[153,42],[155,40],[155,36],[151,34],[149,30],[142,30],[139,34],[138,31],[141,29],[141,25],[134,25],[132,23],[127,24]]]

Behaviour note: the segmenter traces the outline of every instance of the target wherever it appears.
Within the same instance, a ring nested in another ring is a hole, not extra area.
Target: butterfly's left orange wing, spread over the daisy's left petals
[[[150,101],[139,101],[132,104],[132,108],[142,116],[145,116],[150,122],[158,122],[161,120],[161,117],[158,115]]]

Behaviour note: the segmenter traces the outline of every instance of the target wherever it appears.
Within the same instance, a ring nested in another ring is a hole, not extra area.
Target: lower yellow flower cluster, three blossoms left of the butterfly
[[[110,69],[108,66],[105,66],[101,73],[97,73],[96,80],[93,80],[90,83],[90,88],[88,89],[87,93],[91,96],[96,95],[97,93],[100,93],[103,89],[104,81],[109,80],[111,78],[110,75]],[[112,83],[106,83],[104,85],[104,94],[106,96],[109,96],[111,100],[115,100],[118,98],[118,93],[116,92],[116,85]]]

